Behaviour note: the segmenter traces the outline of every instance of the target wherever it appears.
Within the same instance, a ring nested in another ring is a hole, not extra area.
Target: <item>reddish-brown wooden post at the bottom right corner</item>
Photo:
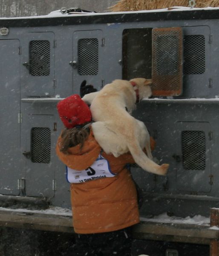
[[[210,227],[219,228],[219,208],[210,209]],[[219,240],[210,241],[210,256],[219,256]]]

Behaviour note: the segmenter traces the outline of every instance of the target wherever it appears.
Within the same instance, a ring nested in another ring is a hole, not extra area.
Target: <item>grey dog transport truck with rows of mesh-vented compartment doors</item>
[[[153,79],[135,118],[166,176],[134,165],[139,253],[219,256],[219,8],[0,18],[0,225],[73,233],[56,105],[86,80]],[[17,210],[22,208],[22,210]],[[57,208],[56,208],[57,209]],[[30,218],[32,215],[34,218]]]

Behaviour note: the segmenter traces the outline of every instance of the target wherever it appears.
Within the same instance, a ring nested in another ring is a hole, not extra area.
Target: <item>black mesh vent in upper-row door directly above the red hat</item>
[[[81,76],[98,74],[98,39],[78,40],[78,73]]]

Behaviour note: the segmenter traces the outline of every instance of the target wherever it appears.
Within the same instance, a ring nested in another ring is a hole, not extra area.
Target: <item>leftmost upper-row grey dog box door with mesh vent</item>
[[[22,97],[54,96],[54,33],[29,33],[26,38],[22,45]]]

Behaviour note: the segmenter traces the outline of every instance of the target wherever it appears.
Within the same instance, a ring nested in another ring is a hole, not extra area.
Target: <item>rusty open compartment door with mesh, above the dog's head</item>
[[[154,96],[182,94],[183,33],[181,27],[152,30],[152,80]]]

